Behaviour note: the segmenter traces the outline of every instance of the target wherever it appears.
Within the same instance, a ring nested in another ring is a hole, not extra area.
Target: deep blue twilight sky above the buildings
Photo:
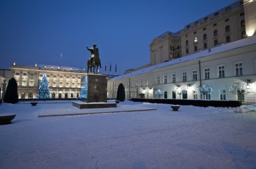
[[[0,68],[50,64],[85,68],[97,44],[112,74],[150,63],[150,42],[236,0],[1,0]],[[63,54],[62,61],[60,54]],[[101,70],[104,72],[104,68]]]

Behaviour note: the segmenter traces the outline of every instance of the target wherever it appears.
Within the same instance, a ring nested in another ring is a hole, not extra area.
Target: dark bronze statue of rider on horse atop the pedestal
[[[90,72],[92,72],[92,68],[94,68],[93,72],[95,74],[95,68],[96,68],[96,74],[97,74],[98,66],[100,66],[101,68],[100,53],[98,52],[98,47],[96,44],[94,44],[92,48],[88,48],[87,46],[86,48],[91,52],[91,56],[87,61],[87,73],[89,73],[89,68],[90,68]]]

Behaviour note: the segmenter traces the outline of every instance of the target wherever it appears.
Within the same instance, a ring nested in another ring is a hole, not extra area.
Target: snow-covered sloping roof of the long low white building
[[[183,56],[181,58],[177,58],[177,59],[173,59],[173,60],[169,60],[168,62],[164,62],[161,64],[156,64],[154,66],[150,66],[148,68],[143,68],[134,72],[130,72],[127,74],[123,74],[120,76],[117,76],[115,78],[111,78],[111,80],[119,80],[122,78],[127,78],[127,77],[131,77],[131,76],[136,76],[139,74],[144,74],[144,73],[148,73],[151,72],[152,70],[156,70],[158,68],[162,68],[162,67],[166,67],[166,66],[170,66],[170,65],[174,65],[174,64],[179,64],[182,62],[187,62],[189,60],[195,60],[197,58],[205,58],[208,56],[212,56],[214,54],[219,54],[222,52],[226,52],[226,51],[230,51],[230,50],[234,50],[236,48],[243,48],[245,46],[251,46],[253,44],[256,44],[256,36],[251,36],[249,38],[245,38],[242,40],[237,40],[235,42],[230,42],[228,44],[224,44],[222,46],[216,46],[214,48],[211,48],[211,52],[209,52],[209,50],[203,50],[201,52],[197,52],[195,54],[191,54],[188,56]]]

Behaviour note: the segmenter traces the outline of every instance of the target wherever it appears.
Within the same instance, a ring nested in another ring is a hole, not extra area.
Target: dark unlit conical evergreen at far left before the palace
[[[15,78],[11,78],[3,97],[5,103],[18,103],[18,85]]]

